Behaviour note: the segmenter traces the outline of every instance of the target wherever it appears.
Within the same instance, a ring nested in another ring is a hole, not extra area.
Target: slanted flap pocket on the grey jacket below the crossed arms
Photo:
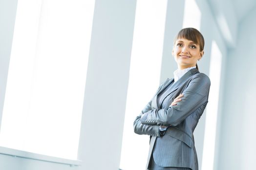
[[[169,128],[169,130],[167,131],[167,134],[171,137],[174,137],[184,142],[186,145],[192,148],[193,146],[192,138],[188,136],[186,133],[182,132],[181,130],[178,130],[177,128]]]

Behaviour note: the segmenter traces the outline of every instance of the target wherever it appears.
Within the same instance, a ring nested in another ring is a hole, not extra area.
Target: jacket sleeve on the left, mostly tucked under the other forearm
[[[167,79],[168,80],[168,79]],[[161,89],[162,85],[164,83],[162,83],[161,85],[159,85],[156,93],[154,94],[153,98],[155,97],[155,95],[158,93],[158,91]],[[152,98],[152,99],[153,99]],[[148,104],[144,107],[144,109],[141,111],[140,115],[136,117],[136,119],[133,122],[133,130],[136,134],[139,135],[150,135],[150,136],[160,136],[159,134],[159,126],[158,125],[148,125],[148,124],[142,124],[140,119],[141,116],[144,113],[147,113],[148,111],[152,110],[151,107],[151,102],[152,99],[148,102]]]

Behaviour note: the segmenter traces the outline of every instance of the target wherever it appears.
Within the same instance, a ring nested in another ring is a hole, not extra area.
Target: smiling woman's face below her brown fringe
[[[180,38],[175,41],[172,55],[179,69],[195,66],[198,59],[201,59],[204,51],[200,51],[198,44],[188,39]]]

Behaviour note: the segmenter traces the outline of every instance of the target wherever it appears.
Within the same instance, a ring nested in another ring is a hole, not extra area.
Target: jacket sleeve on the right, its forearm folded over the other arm
[[[177,126],[192,112],[208,102],[210,79],[200,73],[194,77],[183,91],[182,101],[167,109],[153,109],[144,113],[140,122],[145,125]]]

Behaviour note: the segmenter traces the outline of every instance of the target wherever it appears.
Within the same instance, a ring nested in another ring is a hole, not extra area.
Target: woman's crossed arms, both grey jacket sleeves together
[[[151,101],[141,114],[136,117],[133,128],[136,134],[160,136],[159,126],[177,126],[198,107],[208,102],[210,79],[205,74],[198,74],[182,92],[182,101],[165,109],[151,109]],[[160,88],[160,87],[159,87]]]

